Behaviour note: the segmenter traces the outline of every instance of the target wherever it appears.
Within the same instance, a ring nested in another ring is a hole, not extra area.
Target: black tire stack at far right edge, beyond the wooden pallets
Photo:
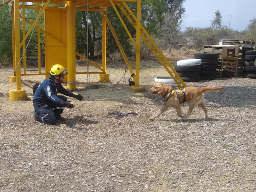
[[[256,50],[248,50],[245,52],[245,77],[256,79]]]

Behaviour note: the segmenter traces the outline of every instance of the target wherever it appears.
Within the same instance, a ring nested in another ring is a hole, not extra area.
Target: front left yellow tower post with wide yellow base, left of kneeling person
[[[15,68],[16,68],[16,90],[9,91],[10,101],[26,98],[26,91],[21,90],[20,73],[20,22],[19,22],[19,0],[14,1],[14,41],[15,41]]]

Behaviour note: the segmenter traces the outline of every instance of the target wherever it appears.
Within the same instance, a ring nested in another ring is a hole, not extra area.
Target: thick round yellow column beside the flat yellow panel
[[[68,8],[68,41],[67,41],[67,63],[68,63],[68,89],[76,89],[76,20],[75,1],[67,1]]]

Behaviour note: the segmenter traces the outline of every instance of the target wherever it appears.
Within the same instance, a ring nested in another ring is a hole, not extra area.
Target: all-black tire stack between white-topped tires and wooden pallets
[[[201,70],[199,72],[201,80],[216,79],[219,53],[195,53],[194,58],[202,60]]]

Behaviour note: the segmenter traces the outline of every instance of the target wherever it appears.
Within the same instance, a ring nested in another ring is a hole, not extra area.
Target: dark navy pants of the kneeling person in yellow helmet
[[[67,97],[65,96],[59,95],[57,97],[63,101],[68,101]],[[42,103],[40,100],[33,102],[33,106],[35,109],[35,119],[48,125],[54,125],[65,108],[62,105],[57,105],[51,101]]]

